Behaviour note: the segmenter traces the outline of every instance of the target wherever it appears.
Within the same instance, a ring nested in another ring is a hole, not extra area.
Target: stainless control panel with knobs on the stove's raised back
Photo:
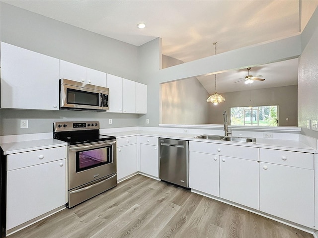
[[[99,129],[98,121],[56,121],[53,123],[54,131],[72,131]]]

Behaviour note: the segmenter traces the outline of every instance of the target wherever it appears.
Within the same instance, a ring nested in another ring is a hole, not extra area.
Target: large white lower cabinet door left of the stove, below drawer
[[[66,203],[65,159],[7,172],[6,230]]]

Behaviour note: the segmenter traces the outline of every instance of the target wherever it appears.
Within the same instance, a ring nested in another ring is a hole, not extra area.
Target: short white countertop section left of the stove
[[[66,146],[68,143],[56,139],[28,140],[10,143],[1,143],[0,146],[4,155],[41,150],[59,146]]]

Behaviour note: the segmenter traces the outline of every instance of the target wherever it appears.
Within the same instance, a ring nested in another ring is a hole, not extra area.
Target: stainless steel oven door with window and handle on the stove
[[[116,173],[116,140],[69,146],[68,189]]]

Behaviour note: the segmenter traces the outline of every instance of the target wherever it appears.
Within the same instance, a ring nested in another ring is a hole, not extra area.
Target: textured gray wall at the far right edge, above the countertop
[[[302,34],[303,53],[298,67],[298,126],[318,138],[318,131],[307,129],[308,120],[318,120],[318,8]]]

